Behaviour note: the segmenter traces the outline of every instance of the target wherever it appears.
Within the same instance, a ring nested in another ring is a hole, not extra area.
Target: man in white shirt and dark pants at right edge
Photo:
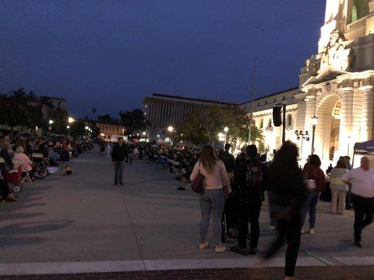
[[[372,222],[374,209],[374,169],[370,168],[369,159],[361,158],[360,167],[344,174],[342,181],[352,185],[354,245],[361,248],[361,232]]]

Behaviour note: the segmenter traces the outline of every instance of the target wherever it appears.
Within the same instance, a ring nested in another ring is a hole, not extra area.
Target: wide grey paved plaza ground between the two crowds
[[[0,279],[281,279],[284,251],[256,268],[274,238],[266,203],[257,256],[199,251],[198,195],[176,190],[168,172],[137,160],[126,166],[124,185],[114,186],[109,158],[84,153],[70,165],[72,176],[36,181],[19,202],[0,206]],[[336,216],[319,203],[316,235],[302,235],[299,279],[374,279],[374,226],[360,249],[352,245],[353,221],[352,211]]]

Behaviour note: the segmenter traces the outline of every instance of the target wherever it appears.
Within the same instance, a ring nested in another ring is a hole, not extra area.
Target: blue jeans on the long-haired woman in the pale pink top
[[[222,188],[218,190],[203,190],[200,196],[201,223],[200,223],[200,239],[201,243],[206,242],[208,234],[209,221],[213,220],[214,245],[221,243],[221,218],[223,207],[225,206],[225,194]]]

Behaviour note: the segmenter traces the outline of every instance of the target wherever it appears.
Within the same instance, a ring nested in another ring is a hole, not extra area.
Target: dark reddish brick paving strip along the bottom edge
[[[225,269],[183,269],[142,272],[100,272],[79,274],[49,274],[0,276],[0,280],[189,280],[189,279],[251,279],[281,280],[283,268],[225,268]],[[326,266],[297,267],[298,280],[373,280],[373,266]]]

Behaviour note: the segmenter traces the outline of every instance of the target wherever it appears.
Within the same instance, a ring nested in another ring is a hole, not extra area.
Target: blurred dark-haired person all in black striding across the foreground
[[[298,147],[286,141],[274,155],[269,165],[269,190],[272,191],[270,214],[276,221],[278,237],[274,240],[265,258],[273,255],[287,241],[286,279],[293,279],[300,248],[301,209],[305,204],[307,190],[298,167]]]

